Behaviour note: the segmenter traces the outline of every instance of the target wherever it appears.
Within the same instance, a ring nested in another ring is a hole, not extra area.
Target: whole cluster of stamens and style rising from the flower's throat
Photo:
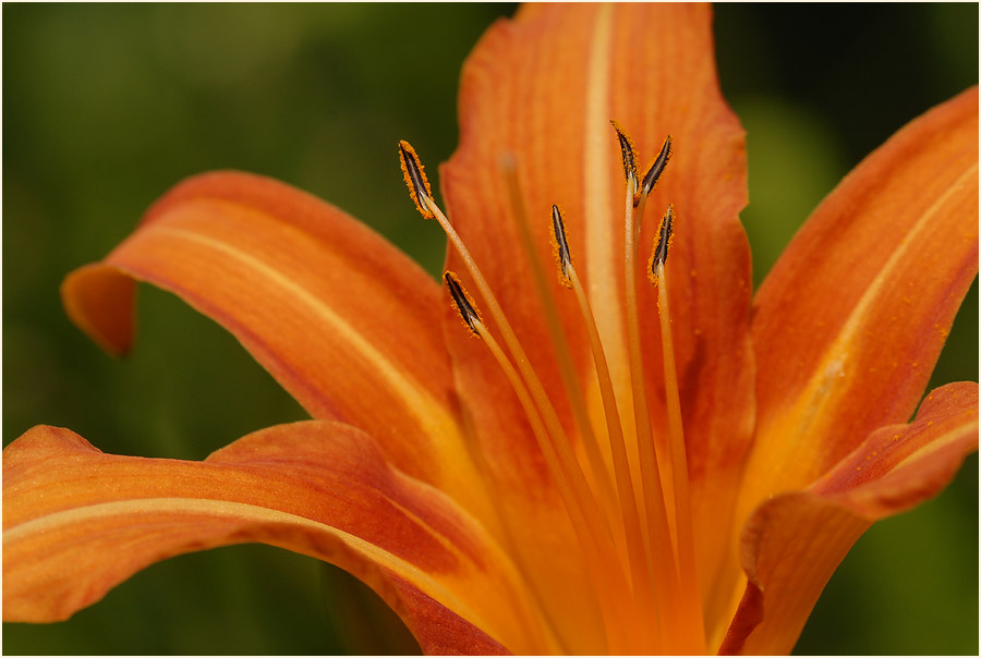
[[[446,272],[444,278],[453,306],[470,331],[483,339],[528,416],[583,557],[590,565],[590,575],[604,616],[609,650],[617,654],[704,654],[704,624],[694,564],[688,466],[665,269],[674,223],[670,207],[662,219],[649,268],[649,277],[657,287],[668,421],[667,439],[657,444],[646,403],[638,313],[637,242],[640,222],[647,196],[670,157],[671,142],[670,137],[665,141],[654,163],[643,180],[640,180],[633,144],[616,122],[613,125],[620,143],[627,180],[625,300],[640,491],[634,487],[631,474],[623,419],[617,407],[609,365],[589,297],[572,265],[559,208],[553,206],[552,212],[553,252],[558,264],[559,282],[574,293],[586,328],[606,419],[606,448],[611,456],[613,477],[586,413],[581,382],[524,212],[513,160],[509,158],[502,163],[513,215],[518,219],[522,248],[529,257],[532,279],[545,309],[546,325],[558,357],[559,374],[582,440],[584,460],[576,455],[572,441],[564,430],[548,394],[477,264],[446,215],[433,200],[415,150],[407,142],[401,142],[399,155],[412,200],[423,217],[435,218],[446,232],[504,341],[501,346],[491,333],[460,279],[453,272]]]

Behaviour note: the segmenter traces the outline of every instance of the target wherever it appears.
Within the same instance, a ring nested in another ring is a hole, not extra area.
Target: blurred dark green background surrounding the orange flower
[[[141,290],[132,356],[104,355],[65,318],[61,278],[174,182],[216,168],[311,191],[438,272],[443,236],[408,200],[395,145],[449,157],[461,62],[513,9],[4,4],[4,444],[47,423],[107,452],[202,459],[303,418],[232,338],[156,290]],[[978,82],[977,4],[726,4],[715,31],[749,133],[758,282],[865,154]],[[977,378],[976,282],[931,386]],[[157,564],[69,622],[4,624],[3,650],[405,650],[372,606],[332,568],[234,547]],[[858,543],[798,651],[978,653],[977,456],[937,500]]]

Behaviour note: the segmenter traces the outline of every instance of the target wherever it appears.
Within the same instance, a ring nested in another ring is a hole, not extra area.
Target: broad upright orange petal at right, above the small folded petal
[[[741,509],[904,423],[978,272],[978,90],[899,131],[821,204],[755,300]]]

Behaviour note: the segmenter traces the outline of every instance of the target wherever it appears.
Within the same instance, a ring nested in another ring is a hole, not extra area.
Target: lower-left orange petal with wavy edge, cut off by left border
[[[246,541],[350,571],[426,650],[555,650],[483,526],[350,426],[271,427],[204,462],[104,454],[44,426],[3,451],[4,620],[65,619],[154,562]]]

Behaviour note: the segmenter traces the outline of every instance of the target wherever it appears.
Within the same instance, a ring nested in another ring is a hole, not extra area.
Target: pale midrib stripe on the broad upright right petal
[[[885,265],[879,270],[875,279],[862,293],[861,298],[855,305],[848,319],[841,327],[834,342],[827,348],[824,356],[821,358],[819,366],[815,368],[815,375],[811,377],[810,385],[800,394],[795,409],[790,412],[790,416],[799,418],[797,422],[797,430],[799,436],[808,432],[813,424],[820,423],[823,417],[832,417],[824,413],[824,409],[834,403],[835,400],[845,394],[846,391],[841,387],[835,386],[835,380],[845,377],[849,366],[849,350],[855,342],[861,328],[867,322],[867,316],[879,297],[880,292],[887,281],[894,277],[894,272],[900,267],[900,264],[908,256],[911,249],[919,245],[919,235],[927,230],[930,220],[940,211],[947,200],[957,194],[964,184],[972,178],[978,176],[978,163],[960,174],[957,180],[947,187],[944,194],[933,202],[927,210],[920,215],[912,228],[907,232]]]

